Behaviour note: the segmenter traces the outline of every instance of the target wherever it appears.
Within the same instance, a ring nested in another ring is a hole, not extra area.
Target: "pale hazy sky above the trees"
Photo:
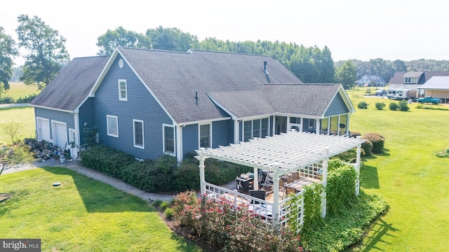
[[[97,38],[107,29],[121,26],[145,33],[163,26],[200,40],[327,45],[334,61],[449,60],[448,9],[449,2],[443,0],[15,0],[1,7],[0,26],[16,39],[18,15],[37,15],[67,38],[71,58],[96,55]]]

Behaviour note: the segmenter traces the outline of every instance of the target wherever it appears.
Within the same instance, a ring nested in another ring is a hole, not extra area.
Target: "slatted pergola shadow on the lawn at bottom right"
[[[392,224],[386,223],[382,218],[378,218],[377,221],[373,224],[373,227],[370,230],[370,234],[368,234],[364,239],[363,239],[363,249],[361,249],[360,251],[372,251],[373,249],[377,249],[379,250],[380,248],[376,246],[377,243],[382,242],[382,243],[387,243],[387,241],[384,241],[384,239],[382,239],[382,237],[384,237],[384,235],[388,235],[391,237],[395,237],[394,235],[392,235],[392,232],[396,232],[398,231],[397,228],[393,228]],[[382,246],[384,247],[384,246]],[[382,249],[380,249],[382,250]]]

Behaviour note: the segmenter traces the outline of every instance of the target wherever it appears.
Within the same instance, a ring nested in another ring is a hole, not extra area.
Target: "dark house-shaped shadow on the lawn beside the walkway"
[[[95,181],[70,169],[61,167],[42,167],[46,172],[62,176],[72,176],[84,206],[89,213],[118,213],[124,211],[156,211],[148,207],[139,197],[129,195],[105,183]],[[71,183],[72,181],[63,181]],[[146,202],[145,202],[146,203]]]

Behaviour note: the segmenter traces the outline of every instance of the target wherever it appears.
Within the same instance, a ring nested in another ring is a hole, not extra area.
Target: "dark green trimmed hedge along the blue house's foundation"
[[[191,153],[177,164],[175,157],[161,155],[156,160],[138,161],[132,155],[107,146],[93,146],[81,153],[84,167],[95,169],[147,192],[181,192],[199,189],[199,161]],[[233,181],[252,167],[208,159],[206,181],[222,185]]]

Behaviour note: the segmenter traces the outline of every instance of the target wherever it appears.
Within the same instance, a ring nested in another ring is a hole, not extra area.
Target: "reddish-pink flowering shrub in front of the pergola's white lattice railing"
[[[246,206],[222,199],[196,197],[192,191],[179,193],[173,204],[173,218],[191,234],[217,250],[224,251],[302,251],[299,236],[290,229],[278,231],[267,226],[261,216]]]

